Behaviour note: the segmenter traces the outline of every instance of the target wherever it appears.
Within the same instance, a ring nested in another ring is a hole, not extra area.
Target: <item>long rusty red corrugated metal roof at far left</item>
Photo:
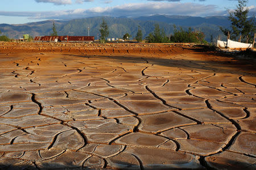
[[[36,36],[35,41],[94,41],[94,36]]]

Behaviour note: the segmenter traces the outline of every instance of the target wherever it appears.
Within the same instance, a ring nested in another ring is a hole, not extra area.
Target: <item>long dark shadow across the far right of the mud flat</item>
[[[82,57],[82,58],[101,58],[106,59],[106,61],[114,61],[120,63],[149,63],[159,66],[166,67],[179,67],[188,70],[201,70],[207,72],[218,72],[218,73],[232,73],[240,75],[250,75],[256,76],[255,71],[255,60],[237,58],[234,56],[226,57],[229,61],[218,61],[221,57],[220,54],[213,54],[212,52],[205,53],[192,53],[193,55],[208,55],[208,60],[193,60],[185,59],[186,54],[174,54],[173,56],[168,56],[169,58],[163,57],[136,57],[136,56],[122,56],[122,55],[109,55],[109,56],[96,56],[96,55],[76,55],[76,54],[63,54],[64,56],[71,57]],[[177,56],[181,56],[181,59],[175,59]],[[216,57],[215,57],[216,56]],[[211,57],[212,59],[209,59]]]

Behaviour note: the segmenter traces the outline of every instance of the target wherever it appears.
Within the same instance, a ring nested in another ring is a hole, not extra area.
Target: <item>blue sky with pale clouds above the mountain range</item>
[[[1,0],[0,23],[23,24],[48,19],[75,19],[91,16],[227,15],[237,0]],[[256,0],[248,0],[256,16]]]

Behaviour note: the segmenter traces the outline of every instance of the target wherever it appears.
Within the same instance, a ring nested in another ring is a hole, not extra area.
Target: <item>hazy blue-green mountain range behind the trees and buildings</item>
[[[82,18],[72,20],[55,20],[58,35],[69,36],[87,36],[90,27],[90,36],[100,37],[100,24],[102,18],[106,20],[109,26],[109,37],[122,38],[125,33],[129,33],[132,37],[136,36],[138,26],[142,28],[143,37],[154,31],[155,24],[158,23],[167,35],[174,32],[173,25],[187,29],[192,27],[196,30],[203,31],[206,35],[206,40],[210,40],[210,35],[217,38],[218,35],[224,36],[219,30],[219,26],[228,27],[230,22],[225,16],[169,16],[169,15],[152,15],[139,16],[137,18],[126,18],[121,16],[113,17],[94,17]],[[7,35],[10,38],[18,39],[23,34],[30,34],[32,36],[50,35],[52,32],[53,20],[46,20],[43,22],[34,22],[26,24],[0,24],[2,35]]]

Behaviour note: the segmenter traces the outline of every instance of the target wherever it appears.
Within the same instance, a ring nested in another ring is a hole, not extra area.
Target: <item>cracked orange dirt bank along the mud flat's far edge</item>
[[[83,54],[118,54],[162,56],[184,53],[189,44],[86,44],[67,42],[0,42],[0,50],[8,52],[71,52]]]

